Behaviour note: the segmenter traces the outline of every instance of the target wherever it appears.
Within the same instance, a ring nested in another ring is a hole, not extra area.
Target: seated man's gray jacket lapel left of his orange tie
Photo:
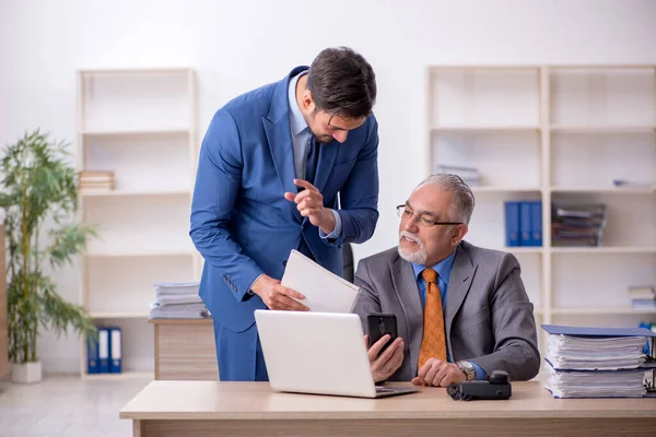
[[[397,293],[401,308],[406,314],[406,323],[409,320],[415,320],[417,318],[423,319],[423,308],[421,306],[421,298],[419,297],[419,287],[417,280],[414,279],[414,272],[412,265],[405,261],[401,257],[397,257],[396,260],[389,261],[391,281],[394,288]],[[406,327],[406,332],[410,334],[410,326]],[[419,350],[421,347],[421,335],[419,341],[407,340],[410,345],[410,364],[412,367],[412,375],[417,374],[417,362],[419,361]]]

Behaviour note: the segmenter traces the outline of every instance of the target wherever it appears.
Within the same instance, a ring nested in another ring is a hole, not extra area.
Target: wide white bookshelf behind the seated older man
[[[430,66],[425,76],[424,173],[480,170],[466,239],[516,255],[538,326],[656,322],[628,293],[656,284],[656,66]],[[523,200],[542,202],[540,247],[505,247],[504,202]],[[552,247],[552,202],[607,204],[602,246]]]

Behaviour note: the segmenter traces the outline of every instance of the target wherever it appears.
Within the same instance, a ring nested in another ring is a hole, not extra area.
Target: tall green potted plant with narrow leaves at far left
[[[96,335],[80,305],[63,299],[44,268],[55,271],[96,235],[93,227],[75,223],[78,178],[68,144],[54,142],[38,130],[4,149],[0,165],[0,209],[5,212],[8,243],[7,288],[9,359],[12,379],[35,382],[42,378],[36,355],[39,326],[56,336],[72,328]]]

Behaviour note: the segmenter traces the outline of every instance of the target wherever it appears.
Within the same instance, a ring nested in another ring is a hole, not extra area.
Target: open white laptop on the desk
[[[273,390],[360,398],[419,391],[374,383],[355,314],[258,309],[255,320]]]

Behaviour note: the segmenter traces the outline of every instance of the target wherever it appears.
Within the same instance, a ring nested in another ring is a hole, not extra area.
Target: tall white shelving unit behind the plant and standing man
[[[122,374],[152,374],[149,306],[159,281],[199,280],[188,236],[196,146],[196,74],[187,68],[78,72],[79,170],[112,170],[114,190],[82,190],[79,218],[94,224],[80,257],[80,302],[96,326],[122,329]]]

